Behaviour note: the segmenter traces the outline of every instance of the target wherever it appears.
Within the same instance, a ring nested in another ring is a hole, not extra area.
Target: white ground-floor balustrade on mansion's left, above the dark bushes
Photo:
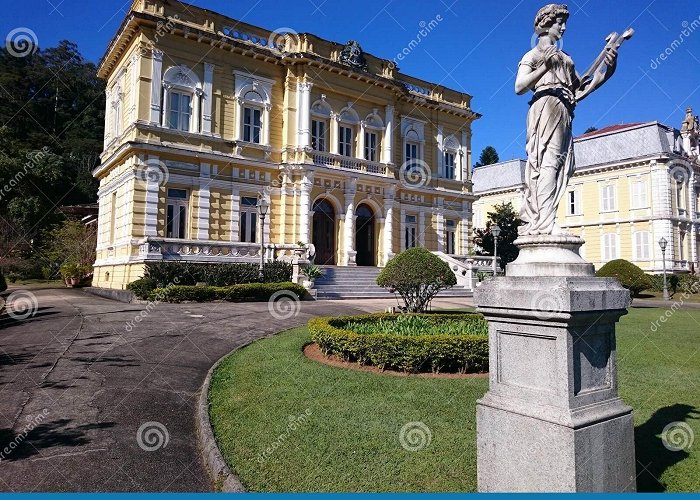
[[[260,243],[239,243],[214,240],[183,240],[179,238],[151,237],[139,241],[139,257],[145,260],[186,260],[192,262],[260,262]],[[265,262],[283,260],[290,262],[299,257],[308,260],[312,247],[293,244],[266,244],[263,248]]]

